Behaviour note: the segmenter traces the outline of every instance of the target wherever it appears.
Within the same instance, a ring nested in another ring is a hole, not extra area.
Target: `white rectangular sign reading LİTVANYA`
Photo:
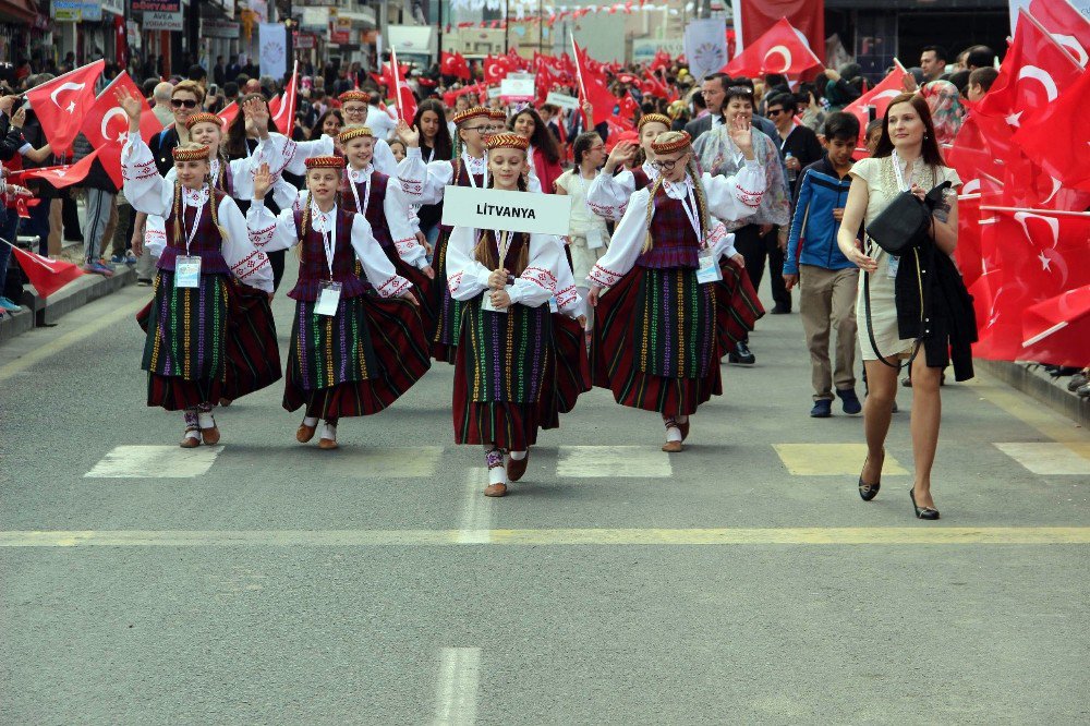
[[[571,196],[529,194],[495,189],[448,185],[443,197],[443,223],[531,234],[564,237],[571,221]]]

